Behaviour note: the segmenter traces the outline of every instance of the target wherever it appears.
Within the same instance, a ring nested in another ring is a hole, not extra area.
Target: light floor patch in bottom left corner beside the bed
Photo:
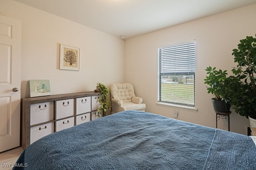
[[[12,170],[12,166],[22,153],[22,147],[14,148],[0,153],[0,170]],[[11,163],[11,164],[9,164]],[[10,165],[10,167],[4,167]]]

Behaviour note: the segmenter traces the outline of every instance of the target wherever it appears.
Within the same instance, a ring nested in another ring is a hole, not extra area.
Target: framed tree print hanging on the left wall
[[[60,44],[60,69],[79,70],[80,48]]]

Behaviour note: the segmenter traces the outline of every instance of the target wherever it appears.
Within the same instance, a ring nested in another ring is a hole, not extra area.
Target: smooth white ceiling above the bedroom
[[[16,0],[125,39],[256,3],[256,0]]]

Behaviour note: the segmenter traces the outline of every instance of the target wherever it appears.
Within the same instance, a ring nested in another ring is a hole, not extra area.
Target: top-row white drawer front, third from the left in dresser
[[[87,113],[91,111],[91,96],[76,98],[76,114]]]

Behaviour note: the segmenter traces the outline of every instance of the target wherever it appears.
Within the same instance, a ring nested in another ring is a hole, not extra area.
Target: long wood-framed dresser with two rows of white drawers
[[[22,148],[56,131],[97,119],[101,97],[96,92],[81,92],[22,98]]]

